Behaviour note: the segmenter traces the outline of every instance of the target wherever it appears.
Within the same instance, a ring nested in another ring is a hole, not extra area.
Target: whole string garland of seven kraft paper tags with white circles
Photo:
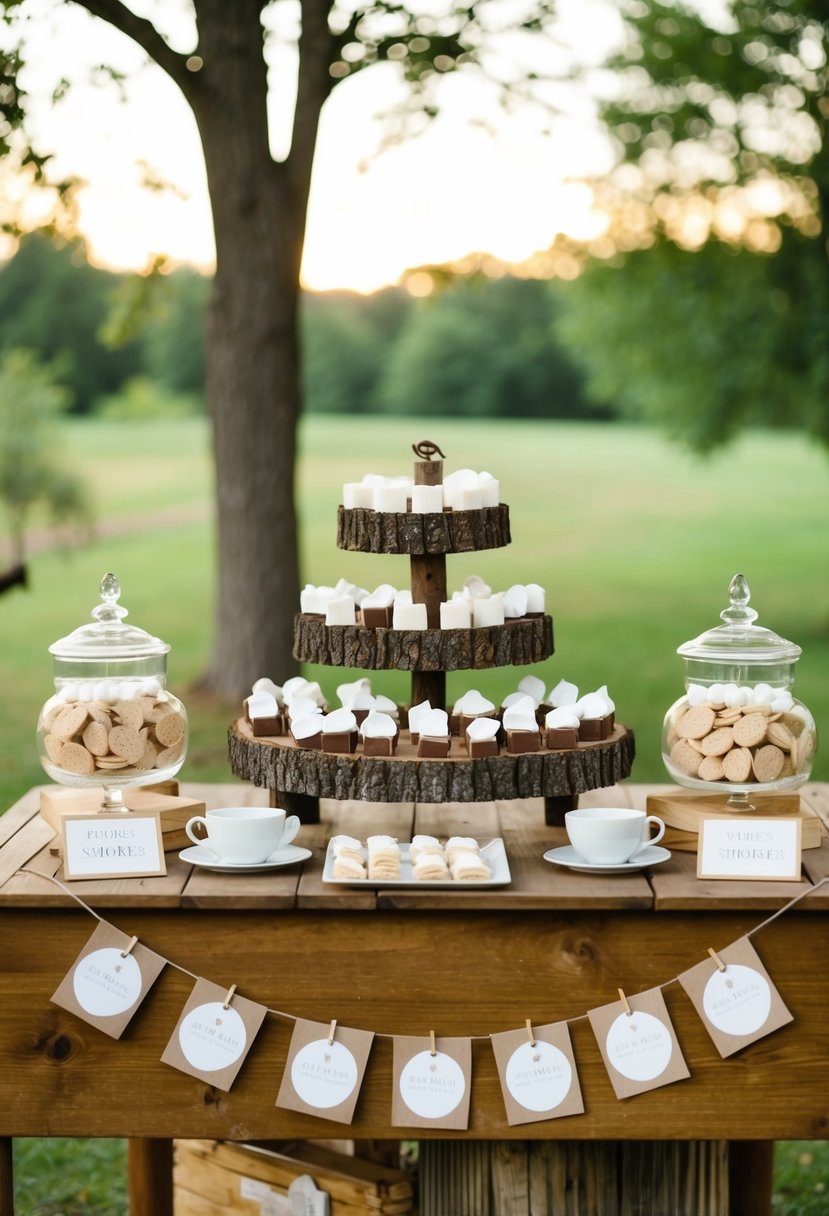
[[[745,936],[681,975],[648,990],[575,1014],[565,1021],[495,1035],[435,1038],[339,1028],[271,1009],[193,975],[103,921],[57,878],[45,878],[98,921],[58,985],[52,1002],[118,1038],[164,967],[196,981],[162,1060],[179,1071],[230,1090],[270,1013],[294,1023],[277,1107],[351,1122],[374,1037],[391,1038],[394,1127],[463,1131],[469,1124],[472,1042],[490,1038],[509,1125],[583,1113],[568,1025],[587,1018],[617,1098],[630,1098],[688,1077],[662,990],[679,983],[720,1054],[726,1058],[793,1021],[749,941],[829,877],[800,893]]]

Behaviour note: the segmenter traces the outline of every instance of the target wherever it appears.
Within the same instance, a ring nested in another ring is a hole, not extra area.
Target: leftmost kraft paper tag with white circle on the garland
[[[165,966],[160,955],[102,921],[61,980],[52,1003],[120,1038]]]

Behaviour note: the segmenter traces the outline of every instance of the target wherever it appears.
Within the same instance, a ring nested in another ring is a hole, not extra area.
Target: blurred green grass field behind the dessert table
[[[47,647],[88,620],[101,575],[122,581],[130,619],[168,642],[169,685],[191,714],[182,779],[227,779],[226,726],[239,706],[199,694],[213,597],[212,471],[202,418],[60,423],[62,454],[90,486],[97,536],[68,551],[35,530],[30,587],[0,598],[0,798],[10,805],[45,779],[34,748],[51,692]],[[760,623],[797,642],[796,694],[823,728],[829,720],[829,477],[825,456],[793,433],[749,432],[705,460],[625,423],[526,420],[318,417],[304,421],[297,496],[301,574],[367,587],[408,585],[399,557],[340,552],[337,506],[345,480],[407,472],[411,444],[430,438],[447,471],[486,468],[511,507],[513,542],[450,558],[450,589],[469,574],[494,589],[540,582],[554,621],[556,654],[538,665],[588,689],[608,683],[636,731],[636,781],[661,781],[659,733],[682,692],[676,647],[717,624],[731,576],[750,582]],[[45,520],[44,520],[45,524]],[[263,554],[278,562],[278,552]],[[238,587],[238,612],[249,589]],[[351,679],[310,669],[329,699]],[[536,669],[532,669],[536,670]],[[263,671],[277,681],[288,672]],[[476,686],[500,699],[525,670],[459,672],[450,697]],[[373,675],[378,691],[408,698],[410,679]],[[829,778],[818,753],[814,776]]]

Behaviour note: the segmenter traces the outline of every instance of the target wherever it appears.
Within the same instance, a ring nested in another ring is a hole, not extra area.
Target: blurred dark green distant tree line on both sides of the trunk
[[[0,266],[0,354],[51,367],[73,413],[199,410],[209,281],[193,270],[150,280],[89,264],[83,246],[26,237]],[[554,332],[548,285],[456,280],[427,299],[305,293],[306,404],[320,413],[608,417]]]

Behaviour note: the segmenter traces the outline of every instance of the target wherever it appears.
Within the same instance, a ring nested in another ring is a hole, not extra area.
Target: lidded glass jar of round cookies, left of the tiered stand
[[[124,811],[123,790],[174,777],[187,751],[187,714],[167,691],[167,642],[128,625],[114,574],[101,580],[92,621],[49,647],[55,693],[38,719],[38,754],[61,786],[103,787],[101,809]]]

